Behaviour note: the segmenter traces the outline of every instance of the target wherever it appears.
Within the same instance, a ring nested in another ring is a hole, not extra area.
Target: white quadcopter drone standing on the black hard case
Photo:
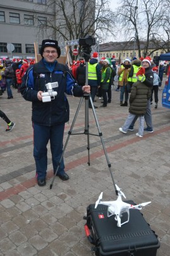
[[[116,190],[118,191],[118,198],[115,201],[102,202],[101,199],[103,197],[103,192],[101,192],[98,200],[96,201],[94,208],[96,209],[98,204],[108,205],[107,216],[111,217],[111,216],[115,215],[115,221],[117,221],[117,226],[121,227],[123,224],[125,224],[129,221],[129,209],[141,210],[142,206],[150,204],[151,202],[145,202],[145,203],[137,204],[137,205],[127,204],[122,201],[122,195],[123,195],[123,197],[125,197],[125,194],[121,191],[121,188],[119,188],[116,184],[115,184],[115,186],[116,186]],[[123,212],[127,212],[128,219],[127,219],[127,221],[121,223],[121,217],[122,217]]]

